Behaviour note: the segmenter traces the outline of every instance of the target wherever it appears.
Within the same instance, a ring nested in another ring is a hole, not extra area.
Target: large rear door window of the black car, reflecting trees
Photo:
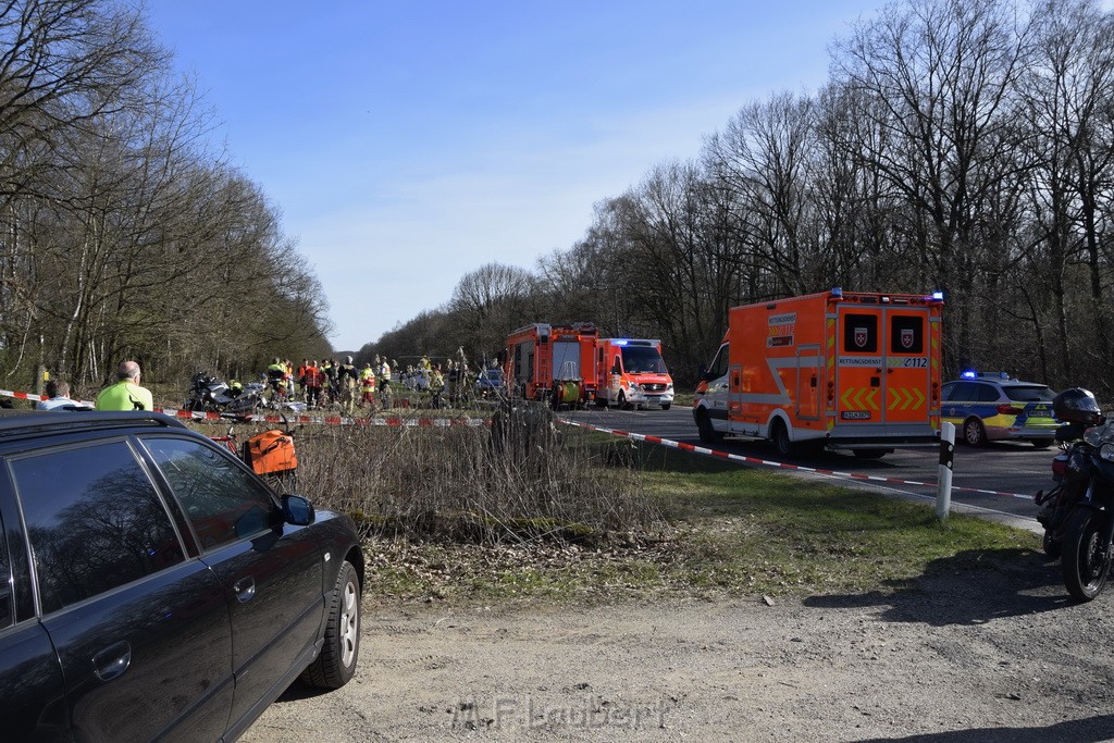
[[[42,612],[182,563],[154,483],[125,441],[11,460]]]

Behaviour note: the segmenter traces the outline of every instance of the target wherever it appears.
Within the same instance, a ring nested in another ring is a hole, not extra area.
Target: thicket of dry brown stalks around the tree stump
[[[507,402],[490,426],[322,427],[294,436],[299,490],[351,514],[369,534],[595,541],[654,517],[637,470],[608,467],[613,446],[561,427],[543,405]]]

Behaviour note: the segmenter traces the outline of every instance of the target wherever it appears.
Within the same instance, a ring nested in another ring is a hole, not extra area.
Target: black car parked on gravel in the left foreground
[[[4,740],[235,739],[300,676],[352,677],[348,517],[159,413],[20,413],[0,417]]]

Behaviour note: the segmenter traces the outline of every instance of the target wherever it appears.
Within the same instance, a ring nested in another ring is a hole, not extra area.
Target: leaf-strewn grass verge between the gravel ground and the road
[[[584,547],[373,540],[372,594],[426,600],[623,599],[889,592],[1039,550],[1028,531],[781,472],[639,448],[659,518]]]

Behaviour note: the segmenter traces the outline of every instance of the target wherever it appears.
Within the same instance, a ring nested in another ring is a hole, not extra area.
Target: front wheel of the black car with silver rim
[[[329,607],[321,655],[302,672],[302,683],[340,688],[351,681],[360,658],[360,576],[348,560],[341,564]]]

